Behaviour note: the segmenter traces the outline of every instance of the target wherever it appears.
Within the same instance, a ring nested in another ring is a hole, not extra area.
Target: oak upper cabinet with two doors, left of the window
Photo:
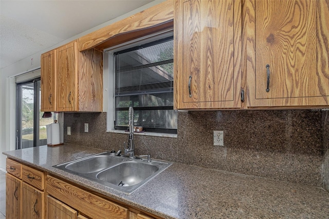
[[[55,54],[54,58],[47,54]],[[41,104],[44,111],[101,112],[103,109],[103,53],[78,51],[77,41],[44,53],[41,69]],[[54,68],[49,66],[54,65]],[[54,69],[50,71],[48,69]],[[48,79],[53,78],[53,83]],[[53,87],[51,87],[53,86]],[[48,90],[56,90],[49,95]],[[51,100],[51,101],[49,101]],[[56,103],[54,108],[46,105]],[[48,110],[49,109],[49,110]]]

